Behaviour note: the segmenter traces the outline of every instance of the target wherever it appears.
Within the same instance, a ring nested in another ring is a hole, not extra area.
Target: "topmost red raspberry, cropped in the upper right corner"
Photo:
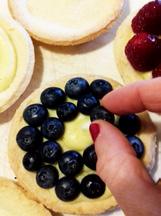
[[[133,18],[132,29],[135,33],[147,32],[161,34],[161,0],[146,4]]]

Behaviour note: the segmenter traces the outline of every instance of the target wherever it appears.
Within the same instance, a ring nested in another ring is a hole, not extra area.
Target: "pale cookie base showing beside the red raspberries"
[[[114,41],[114,55],[118,70],[125,83],[133,83],[138,80],[150,79],[152,74],[150,72],[136,71],[125,55],[125,47],[128,41],[134,36],[131,28],[131,20],[135,15],[130,15],[120,25],[115,41]]]

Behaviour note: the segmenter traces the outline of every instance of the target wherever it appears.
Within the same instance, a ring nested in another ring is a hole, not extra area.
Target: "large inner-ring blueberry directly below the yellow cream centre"
[[[83,158],[76,151],[65,152],[58,161],[59,168],[67,176],[78,174],[83,168]]]

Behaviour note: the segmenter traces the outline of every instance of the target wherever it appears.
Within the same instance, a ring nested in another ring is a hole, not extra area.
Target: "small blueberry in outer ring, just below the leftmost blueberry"
[[[27,152],[23,157],[23,166],[28,171],[38,170],[41,163],[41,157],[37,152]]]

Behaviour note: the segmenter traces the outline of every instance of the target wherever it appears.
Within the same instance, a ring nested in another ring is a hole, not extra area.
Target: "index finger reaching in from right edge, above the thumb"
[[[145,110],[161,112],[161,78],[139,81],[105,95],[102,106],[122,115]]]

